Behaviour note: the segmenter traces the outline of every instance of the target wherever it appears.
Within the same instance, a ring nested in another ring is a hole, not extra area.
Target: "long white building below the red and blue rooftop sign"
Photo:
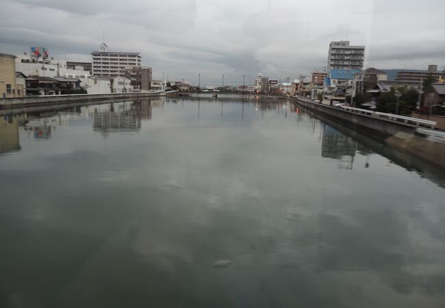
[[[87,70],[67,68],[65,60],[54,60],[54,57],[44,59],[29,53],[16,55],[16,71],[26,76],[39,77],[72,77],[81,78],[90,76]]]

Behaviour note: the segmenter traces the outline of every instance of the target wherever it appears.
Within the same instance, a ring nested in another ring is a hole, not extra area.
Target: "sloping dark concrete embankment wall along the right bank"
[[[405,151],[437,166],[445,168],[445,143],[434,142],[416,136],[416,126],[396,123],[382,118],[372,118],[364,114],[354,114],[328,105],[321,105],[295,99],[298,105],[306,107],[335,122],[357,129],[367,136],[385,142],[399,151]]]

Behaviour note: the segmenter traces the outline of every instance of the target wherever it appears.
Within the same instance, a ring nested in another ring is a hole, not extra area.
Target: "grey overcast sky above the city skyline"
[[[110,51],[142,53],[153,77],[201,86],[284,79],[327,65],[331,40],[366,45],[365,66],[445,65],[445,1],[2,0],[0,52],[44,46],[91,61],[105,30]]]

